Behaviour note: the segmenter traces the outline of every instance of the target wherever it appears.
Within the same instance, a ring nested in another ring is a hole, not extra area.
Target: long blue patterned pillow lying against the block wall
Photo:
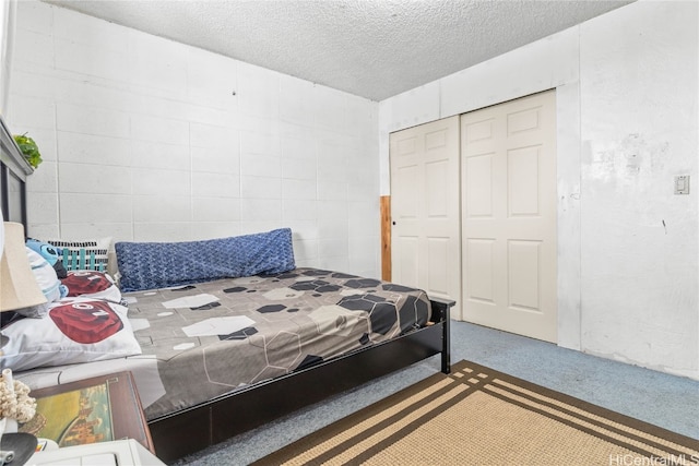
[[[182,242],[117,242],[122,291],[294,270],[292,230]]]

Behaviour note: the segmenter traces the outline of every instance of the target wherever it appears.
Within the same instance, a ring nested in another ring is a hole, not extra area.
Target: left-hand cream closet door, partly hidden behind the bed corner
[[[459,117],[390,135],[392,282],[457,301],[461,318]]]

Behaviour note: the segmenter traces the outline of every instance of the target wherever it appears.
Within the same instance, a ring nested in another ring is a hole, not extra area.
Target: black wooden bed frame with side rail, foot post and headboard
[[[7,222],[22,223],[26,229],[25,181],[33,170],[1,118],[0,122],[2,216]],[[454,302],[431,299],[431,303],[433,318],[426,327],[151,419],[149,427],[157,456],[173,462],[438,354],[441,371],[449,373],[450,308]]]

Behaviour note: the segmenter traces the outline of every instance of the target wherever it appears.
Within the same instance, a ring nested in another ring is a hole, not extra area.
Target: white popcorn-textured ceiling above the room
[[[44,0],[372,100],[630,1]]]

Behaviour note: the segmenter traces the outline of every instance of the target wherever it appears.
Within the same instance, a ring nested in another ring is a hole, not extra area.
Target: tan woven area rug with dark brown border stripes
[[[699,441],[460,361],[254,464],[691,466]]]

